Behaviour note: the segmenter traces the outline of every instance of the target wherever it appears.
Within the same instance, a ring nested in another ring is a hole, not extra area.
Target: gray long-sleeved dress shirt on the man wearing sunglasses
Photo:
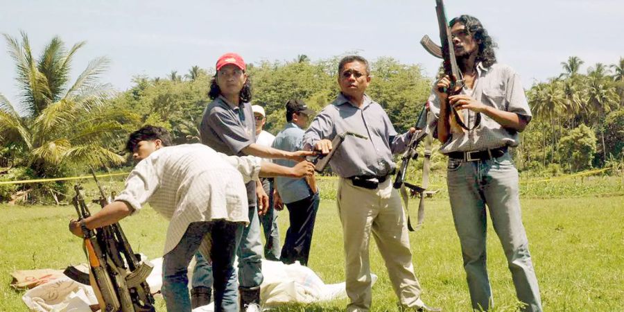
[[[368,139],[348,135],[336,150],[329,165],[340,177],[392,173],[396,168],[392,154],[406,150],[411,138],[409,132],[397,135],[388,114],[367,95],[362,107],[358,107],[339,94],[314,118],[304,135],[303,146],[310,149],[318,140],[331,140],[343,132],[355,132]]]

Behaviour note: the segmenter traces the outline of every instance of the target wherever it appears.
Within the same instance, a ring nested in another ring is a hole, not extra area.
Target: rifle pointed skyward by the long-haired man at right
[[[447,13],[444,11],[444,2],[442,0],[435,0],[435,12],[437,14],[437,24],[440,27],[440,42],[442,46],[438,46],[433,43],[433,40],[429,38],[428,35],[424,35],[422,40],[420,40],[420,44],[424,47],[424,49],[435,56],[436,58],[442,58],[443,67],[444,67],[444,75],[449,76],[451,78],[451,86],[446,90],[440,90],[440,92],[446,92],[448,96],[459,94],[464,87],[464,80],[462,76],[462,72],[459,70],[457,65],[457,59],[455,57],[455,49],[453,49],[453,37],[451,36],[451,28],[449,27],[449,22],[447,21]],[[450,107],[449,100],[447,97],[446,103],[440,103],[440,105],[447,105],[451,110],[451,132],[453,133],[462,133],[465,130],[473,130],[478,127],[481,122],[481,114],[476,114],[476,119],[472,128],[468,128],[464,123],[462,115],[458,114],[457,110],[454,107]],[[443,116],[440,116],[443,118]],[[463,128],[463,129],[462,129]]]

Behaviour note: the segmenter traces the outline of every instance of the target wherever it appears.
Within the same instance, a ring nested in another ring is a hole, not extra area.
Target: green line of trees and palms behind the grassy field
[[[129,132],[144,124],[162,125],[177,144],[199,140],[198,123],[206,105],[214,69],[192,66],[187,73],[162,77],[135,76],[130,89],[114,92],[101,83],[106,58],[89,62],[71,80],[73,55],[85,42],[69,49],[59,37],[33,55],[26,33],[3,35],[15,61],[20,88],[17,103],[0,94],[0,180],[62,177],[85,172],[87,166],[111,168],[131,164],[123,153]],[[286,123],[284,103],[301,98],[321,110],[338,94],[340,57],[311,61],[297,55],[291,61],[249,64],[252,103],[267,112],[266,130],[276,134]],[[534,118],[514,150],[521,171],[579,171],[623,162],[624,59],[596,64],[580,73],[582,60],[562,62],[562,73],[527,90]],[[371,62],[367,93],[378,101],[398,132],[413,126],[433,84],[419,65],[381,57]],[[439,146],[439,145],[438,145]],[[434,170],[443,171],[444,157]],[[417,168],[413,168],[416,171]],[[0,200],[16,192],[31,198],[62,196],[62,182],[0,186]]]

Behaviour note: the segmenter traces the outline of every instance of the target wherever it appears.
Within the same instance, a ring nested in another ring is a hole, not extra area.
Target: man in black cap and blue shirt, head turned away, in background
[[[286,103],[286,122],[275,141],[273,148],[279,150],[301,150],[302,139],[305,128],[308,126],[309,118],[315,112],[308,108],[308,105],[299,99],[293,99]],[[275,164],[292,167],[295,162],[290,160],[275,159]],[[314,185],[314,184],[313,184]],[[299,261],[302,266],[308,265],[310,256],[310,245],[312,243],[312,233],[318,211],[318,189],[311,189],[305,179],[275,178],[275,198],[276,209],[283,209],[280,203],[288,208],[288,220],[290,227],[286,232],[284,248],[281,249],[281,262],[286,264]]]

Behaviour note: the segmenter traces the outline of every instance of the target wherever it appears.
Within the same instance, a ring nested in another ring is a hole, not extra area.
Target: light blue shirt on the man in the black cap
[[[301,150],[303,136],[304,130],[294,123],[288,123],[284,130],[281,130],[275,137],[275,140],[273,140],[272,148],[287,150],[288,152]],[[297,162],[290,159],[273,159],[273,162],[286,167],[294,167],[297,164]],[[290,204],[312,195],[308,183],[303,178],[275,177],[275,188],[279,192],[279,196],[281,196],[284,204]]]

